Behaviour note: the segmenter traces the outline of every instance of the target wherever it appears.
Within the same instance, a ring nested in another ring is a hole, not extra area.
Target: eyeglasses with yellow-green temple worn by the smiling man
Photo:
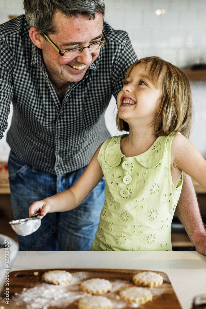
[[[103,32],[103,30],[102,30],[102,32]],[[92,43],[92,44],[90,44],[89,46],[86,46],[86,47],[77,47],[77,48],[67,49],[67,50],[65,50],[65,51],[62,53],[61,50],[57,47],[57,45],[54,44],[54,42],[52,42],[52,40],[50,40],[50,39],[48,38],[48,36],[46,36],[44,33],[42,33],[42,34],[43,34],[43,36],[49,41],[49,43],[52,44],[52,46],[56,49],[56,51],[57,51],[61,56],[63,56],[64,58],[72,58],[72,57],[75,57],[75,56],[77,56],[78,54],[80,54],[84,48],[88,48],[88,49],[90,49],[91,51],[100,49],[100,48],[102,48],[102,47],[104,46],[104,44],[107,42],[107,37],[106,37],[105,33],[103,32],[103,40],[98,41],[98,42],[95,42],[95,43]]]

